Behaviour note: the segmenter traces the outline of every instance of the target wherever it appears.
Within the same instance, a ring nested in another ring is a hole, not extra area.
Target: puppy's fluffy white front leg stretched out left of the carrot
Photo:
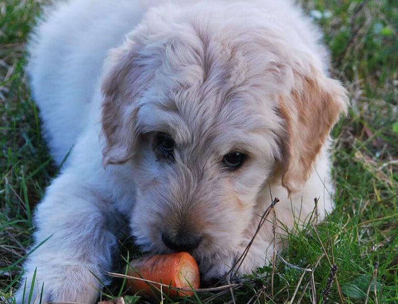
[[[106,280],[117,254],[117,239],[107,225],[114,212],[83,182],[64,173],[47,188],[36,211],[35,243],[16,303],[28,303],[31,290],[31,302],[36,297],[37,302],[41,297],[41,302],[83,303],[97,298],[99,280]]]

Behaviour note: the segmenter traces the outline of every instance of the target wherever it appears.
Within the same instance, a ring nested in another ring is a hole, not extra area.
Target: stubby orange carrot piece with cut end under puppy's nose
[[[132,260],[128,266],[127,275],[135,277],[126,280],[133,294],[154,296],[162,288],[169,297],[193,295],[193,292],[168,288],[197,289],[200,285],[199,269],[195,259],[188,252],[177,252],[168,255],[155,255]],[[142,278],[150,282],[137,280]],[[156,284],[161,283],[164,285]],[[155,287],[155,288],[154,288]]]

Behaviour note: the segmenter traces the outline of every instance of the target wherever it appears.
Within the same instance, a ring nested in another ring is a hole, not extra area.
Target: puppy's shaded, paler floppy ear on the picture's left
[[[139,47],[132,41],[112,49],[104,66],[102,79],[103,163],[126,163],[134,155],[138,137],[137,100],[151,81],[151,68],[143,63]]]

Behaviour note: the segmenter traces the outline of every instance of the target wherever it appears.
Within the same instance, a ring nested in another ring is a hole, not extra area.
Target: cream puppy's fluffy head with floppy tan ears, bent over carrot
[[[234,252],[276,170],[300,189],[346,109],[345,90],[300,39],[216,9],[152,11],[113,50],[103,81],[104,162],[133,163],[137,243],[198,262]]]

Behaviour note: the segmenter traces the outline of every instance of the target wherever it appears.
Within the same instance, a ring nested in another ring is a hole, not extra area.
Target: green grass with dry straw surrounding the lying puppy
[[[27,35],[44,2],[0,1],[0,302],[12,301],[32,213],[57,169],[23,71]],[[349,115],[333,131],[336,210],[290,234],[273,266],[186,302],[398,302],[398,7],[393,0],[300,2],[317,17],[331,73],[351,96]],[[119,283],[104,293],[120,295]]]

